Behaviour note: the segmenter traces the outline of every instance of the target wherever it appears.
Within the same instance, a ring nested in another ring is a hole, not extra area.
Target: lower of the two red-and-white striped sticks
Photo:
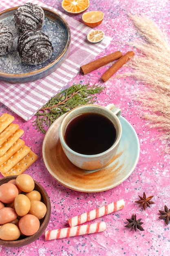
[[[68,236],[81,236],[86,234],[92,234],[102,232],[106,230],[105,222],[92,223],[88,225],[82,225],[77,227],[65,227],[63,229],[54,229],[45,231],[45,239],[53,240],[58,238],[66,238]]]

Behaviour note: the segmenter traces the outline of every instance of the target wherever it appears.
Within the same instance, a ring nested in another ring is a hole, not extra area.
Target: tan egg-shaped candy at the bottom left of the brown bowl
[[[20,229],[13,223],[7,223],[0,227],[0,239],[15,241],[20,237]]]

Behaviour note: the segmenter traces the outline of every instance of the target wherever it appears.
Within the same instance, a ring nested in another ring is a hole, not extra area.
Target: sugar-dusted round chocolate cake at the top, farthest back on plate
[[[44,11],[37,4],[26,3],[15,11],[14,22],[21,33],[32,29],[40,30],[44,24]]]

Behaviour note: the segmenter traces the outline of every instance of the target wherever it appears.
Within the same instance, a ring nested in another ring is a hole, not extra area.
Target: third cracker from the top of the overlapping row
[[[4,153],[9,150],[9,148],[14,144],[17,139],[21,137],[21,135],[24,133],[24,130],[18,129],[15,133],[13,133],[2,145],[0,145],[0,157],[4,155]]]

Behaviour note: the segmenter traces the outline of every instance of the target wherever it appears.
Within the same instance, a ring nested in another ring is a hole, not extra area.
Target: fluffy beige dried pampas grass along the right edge
[[[144,15],[129,15],[141,34],[141,42],[132,43],[135,56],[126,63],[132,72],[117,77],[133,76],[147,85],[143,92],[134,94],[135,101],[141,102],[145,110],[143,118],[150,126],[162,131],[160,139],[170,144],[170,45],[168,37],[159,27]],[[132,95],[132,94],[131,94]],[[170,152],[170,150],[169,150]]]

